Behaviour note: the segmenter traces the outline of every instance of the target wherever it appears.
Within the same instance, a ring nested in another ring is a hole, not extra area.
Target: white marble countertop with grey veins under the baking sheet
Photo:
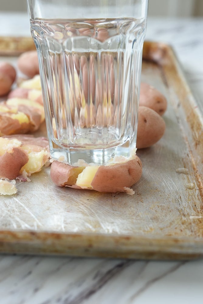
[[[0,12],[0,35],[29,35],[27,15]],[[149,19],[169,43],[203,109],[203,19]],[[202,303],[203,260],[132,261],[0,255],[1,304]]]

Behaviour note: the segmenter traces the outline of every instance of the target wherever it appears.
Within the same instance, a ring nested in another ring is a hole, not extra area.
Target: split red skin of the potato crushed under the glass
[[[67,184],[67,180],[72,174],[71,170],[78,167],[73,167],[68,164],[53,161],[51,164],[50,176],[53,183],[63,187],[67,185],[71,188],[81,189],[75,184]],[[91,186],[87,188],[98,192],[125,192],[124,187],[134,185],[142,175],[142,163],[138,156],[120,164],[110,166],[100,166],[96,172]]]

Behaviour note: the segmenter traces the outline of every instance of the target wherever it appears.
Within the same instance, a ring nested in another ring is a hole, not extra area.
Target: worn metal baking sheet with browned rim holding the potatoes
[[[6,38],[6,43],[0,38],[0,60],[8,56],[7,61],[16,62],[13,56],[34,48],[31,38]],[[51,182],[50,168],[43,168],[30,182],[17,182],[17,194],[0,197],[0,252],[143,259],[203,256],[201,113],[170,46],[144,43],[142,81],[167,97],[168,109],[163,138],[137,151],[143,175],[132,187],[135,194],[60,188]],[[35,136],[42,134],[45,125]]]

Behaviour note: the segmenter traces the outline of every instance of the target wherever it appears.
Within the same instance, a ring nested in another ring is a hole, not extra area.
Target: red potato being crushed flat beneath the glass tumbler
[[[142,175],[142,163],[136,155],[129,161],[106,166],[73,167],[58,161],[51,164],[50,176],[57,186],[91,189],[98,192],[127,192]]]

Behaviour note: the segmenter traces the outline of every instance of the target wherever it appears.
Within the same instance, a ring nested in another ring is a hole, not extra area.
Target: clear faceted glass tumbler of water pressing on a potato
[[[27,0],[53,159],[135,152],[148,0]]]

